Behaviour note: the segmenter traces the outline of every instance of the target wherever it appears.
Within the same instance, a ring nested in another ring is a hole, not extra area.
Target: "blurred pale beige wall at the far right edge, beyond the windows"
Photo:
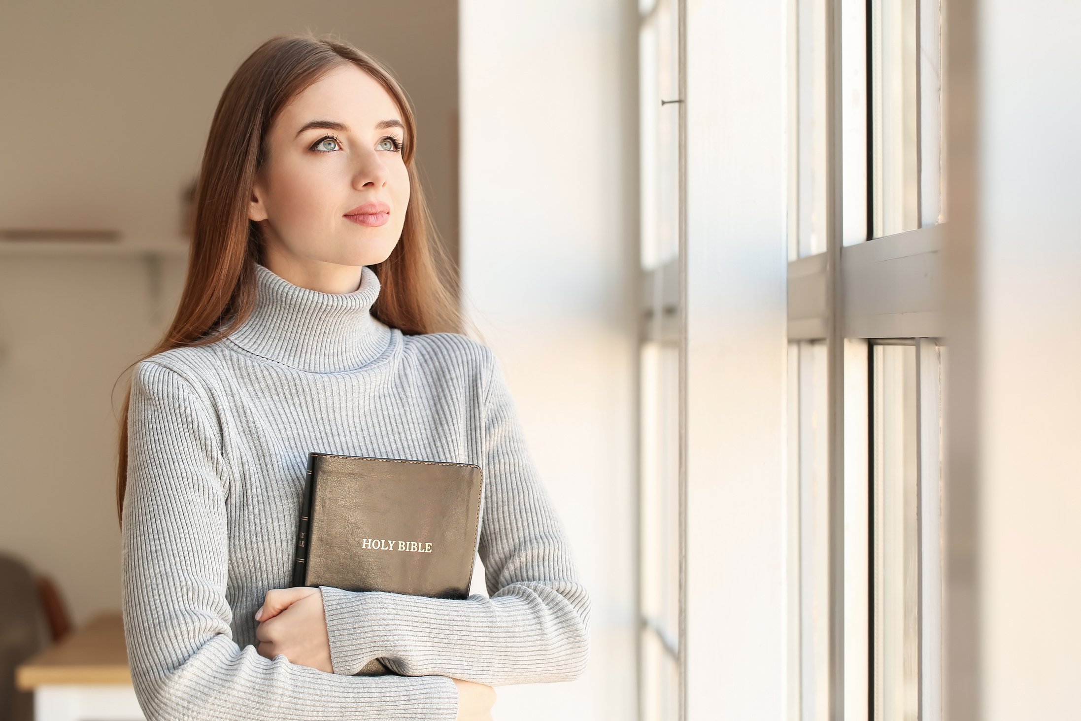
[[[1077,719],[1081,6],[948,13],[944,718]]]

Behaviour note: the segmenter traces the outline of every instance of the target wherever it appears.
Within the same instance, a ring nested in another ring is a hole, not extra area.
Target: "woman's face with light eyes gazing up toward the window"
[[[359,266],[386,259],[409,204],[404,133],[390,94],[355,65],[294,97],[271,124],[249,206],[267,267],[349,291]],[[384,212],[355,215],[366,203]]]

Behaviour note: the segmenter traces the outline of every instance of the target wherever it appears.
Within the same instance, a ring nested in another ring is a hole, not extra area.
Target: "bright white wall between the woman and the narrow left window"
[[[463,0],[462,275],[592,592],[585,676],[497,719],[631,719],[637,450],[635,3]]]

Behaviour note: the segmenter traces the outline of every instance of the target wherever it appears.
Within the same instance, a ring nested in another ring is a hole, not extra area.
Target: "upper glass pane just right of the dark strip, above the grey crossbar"
[[[871,0],[872,236],[920,227],[917,0]]]

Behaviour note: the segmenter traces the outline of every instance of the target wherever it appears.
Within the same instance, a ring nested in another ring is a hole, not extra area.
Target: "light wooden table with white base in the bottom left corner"
[[[96,616],[15,669],[34,692],[35,721],[145,721],[135,698],[119,612]]]

